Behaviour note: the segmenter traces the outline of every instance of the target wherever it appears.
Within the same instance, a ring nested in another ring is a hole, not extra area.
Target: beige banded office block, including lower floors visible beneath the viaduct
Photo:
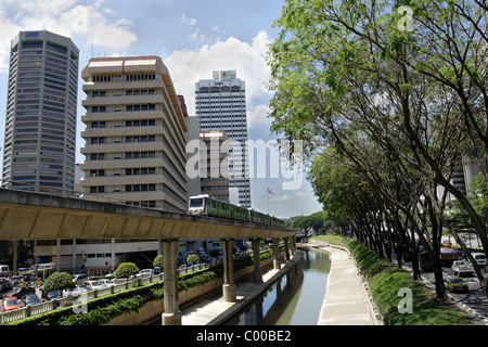
[[[92,59],[82,78],[84,198],[188,210],[187,107],[162,60]],[[193,137],[197,136],[196,129]],[[59,261],[61,269],[90,274],[125,261],[152,267],[158,254],[158,240],[61,240],[36,247],[41,261]]]

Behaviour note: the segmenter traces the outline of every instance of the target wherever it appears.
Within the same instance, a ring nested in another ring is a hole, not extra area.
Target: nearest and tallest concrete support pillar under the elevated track
[[[180,241],[162,240],[164,262],[165,312],[162,314],[163,325],[181,325],[181,313],[178,305],[178,248]]]

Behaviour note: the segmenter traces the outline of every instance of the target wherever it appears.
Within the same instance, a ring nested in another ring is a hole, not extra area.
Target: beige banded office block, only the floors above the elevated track
[[[85,192],[188,210],[184,107],[160,57],[91,59],[81,75]]]

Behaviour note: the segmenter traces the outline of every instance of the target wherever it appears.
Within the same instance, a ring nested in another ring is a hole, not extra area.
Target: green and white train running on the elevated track
[[[189,200],[188,211],[190,215],[203,215],[236,221],[284,227],[284,220],[281,218],[258,213],[253,208],[245,208],[230,203],[224,203],[211,197],[208,194],[191,196]]]

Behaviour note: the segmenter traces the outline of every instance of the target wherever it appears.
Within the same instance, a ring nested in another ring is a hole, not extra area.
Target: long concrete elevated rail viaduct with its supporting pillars
[[[223,298],[235,301],[232,265],[234,240],[252,240],[254,253],[259,254],[260,239],[272,239],[274,267],[279,268],[279,240],[283,239],[285,258],[290,259],[290,255],[296,250],[295,235],[295,230],[271,226],[0,189],[0,240],[14,241],[14,245],[17,240],[159,240],[165,269],[165,325],[181,324],[177,271],[180,239],[220,240],[223,250]],[[255,257],[254,267],[253,280],[262,281],[259,257]]]

